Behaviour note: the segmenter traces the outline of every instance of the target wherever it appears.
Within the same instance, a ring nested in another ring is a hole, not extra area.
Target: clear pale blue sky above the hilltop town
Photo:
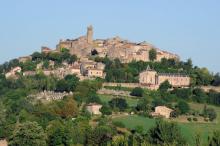
[[[219,0],[2,0],[0,63],[55,48],[90,24],[95,38],[145,40],[220,72]]]

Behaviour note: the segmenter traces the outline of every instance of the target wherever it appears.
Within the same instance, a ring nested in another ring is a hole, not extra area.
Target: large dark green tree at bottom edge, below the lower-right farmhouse
[[[185,146],[180,128],[175,123],[156,121],[156,126],[148,131],[149,142],[155,145]]]

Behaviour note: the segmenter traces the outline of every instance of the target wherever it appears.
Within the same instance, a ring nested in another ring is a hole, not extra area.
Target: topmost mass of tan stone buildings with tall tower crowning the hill
[[[119,58],[123,63],[128,63],[133,60],[149,61],[149,51],[151,49],[157,51],[156,61],[160,61],[162,58],[179,60],[178,55],[162,51],[146,42],[134,43],[123,40],[120,37],[93,40],[92,26],[87,28],[86,36],[81,36],[73,40],[60,40],[57,45],[57,51],[60,51],[61,48],[69,49],[71,54],[75,54],[79,58],[89,57],[92,55],[92,51],[95,50],[99,57],[108,56],[110,59]]]

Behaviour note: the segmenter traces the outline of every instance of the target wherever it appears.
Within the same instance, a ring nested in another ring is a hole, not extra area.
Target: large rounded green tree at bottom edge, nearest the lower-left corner
[[[25,122],[15,126],[9,139],[10,146],[46,146],[46,135],[36,122]]]

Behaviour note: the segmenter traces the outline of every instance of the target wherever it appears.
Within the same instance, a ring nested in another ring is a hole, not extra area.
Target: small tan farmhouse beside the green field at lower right
[[[157,106],[155,107],[155,112],[152,112],[151,115],[152,116],[162,116],[165,118],[170,118],[170,114],[173,112],[174,110],[166,107],[166,106]]]

